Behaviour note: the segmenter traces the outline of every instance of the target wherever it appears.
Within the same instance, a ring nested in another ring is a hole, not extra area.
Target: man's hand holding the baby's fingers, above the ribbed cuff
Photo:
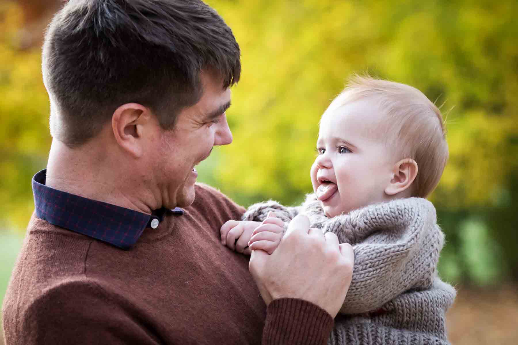
[[[324,235],[309,224],[304,215],[293,218],[271,255],[252,252],[249,269],[267,305],[277,298],[300,298],[334,318],[351,284],[353,249],[340,245],[335,234]]]

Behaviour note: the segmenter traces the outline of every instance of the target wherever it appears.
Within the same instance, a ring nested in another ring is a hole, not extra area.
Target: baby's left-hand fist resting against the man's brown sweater
[[[261,224],[260,221],[228,220],[220,229],[221,244],[245,255],[250,255],[252,251],[248,248],[248,241],[255,228]]]

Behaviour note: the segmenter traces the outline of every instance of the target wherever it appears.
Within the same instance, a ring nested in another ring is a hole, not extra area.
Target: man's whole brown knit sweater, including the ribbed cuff
[[[6,344],[325,343],[329,314],[289,298],[266,309],[248,258],[219,242],[243,211],[197,185],[183,216],[131,250],[33,215],[4,299]]]

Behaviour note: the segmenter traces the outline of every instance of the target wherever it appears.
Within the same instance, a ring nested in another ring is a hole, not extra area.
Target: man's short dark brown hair
[[[129,102],[172,128],[202,96],[202,70],[226,88],[239,80],[241,63],[231,28],[202,1],[70,0],[48,27],[42,70],[51,134],[74,147]]]

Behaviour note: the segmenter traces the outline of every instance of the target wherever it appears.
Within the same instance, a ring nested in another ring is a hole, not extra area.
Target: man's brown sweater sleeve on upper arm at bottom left
[[[125,312],[115,296],[90,281],[70,281],[48,289],[24,308],[8,344],[159,344]],[[85,308],[88,306],[88,308]]]

